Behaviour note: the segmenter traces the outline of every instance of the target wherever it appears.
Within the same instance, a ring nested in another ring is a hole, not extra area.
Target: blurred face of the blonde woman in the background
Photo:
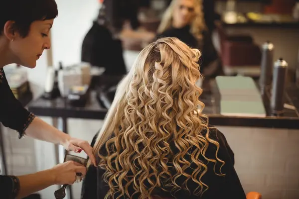
[[[177,0],[173,10],[173,25],[177,28],[191,23],[194,16],[194,0]]]

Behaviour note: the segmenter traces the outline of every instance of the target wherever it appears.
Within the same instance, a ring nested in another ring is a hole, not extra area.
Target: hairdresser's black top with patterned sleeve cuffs
[[[34,119],[35,115],[15,99],[0,68],[0,122],[19,133],[19,138]],[[0,198],[15,199],[19,191],[19,180],[15,176],[0,176]]]

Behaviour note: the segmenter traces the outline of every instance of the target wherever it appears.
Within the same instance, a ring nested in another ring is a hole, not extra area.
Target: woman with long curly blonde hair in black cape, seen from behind
[[[245,199],[226,139],[201,113],[200,52],[149,44],[118,86],[94,145],[82,199]]]

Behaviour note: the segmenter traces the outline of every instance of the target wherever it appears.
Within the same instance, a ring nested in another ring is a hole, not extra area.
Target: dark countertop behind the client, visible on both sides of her
[[[271,115],[269,109],[269,97],[264,97],[267,111],[265,118],[223,116],[220,114],[220,98],[217,95],[215,83],[204,82],[203,94],[200,99],[205,103],[203,113],[209,116],[212,125],[224,126],[252,126],[268,128],[299,129],[299,88],[292,85],[286,90],[286,102],[294,105],[296,110],[285,109],[285,113],[279,116]],[[96,98],[96,92],[91,91],[90,98],[85,107],[73,107],[65,99],[45,100],[39,98],[31,101],[29,111],[39,116],[104,119],[107,109],[100,105]]]

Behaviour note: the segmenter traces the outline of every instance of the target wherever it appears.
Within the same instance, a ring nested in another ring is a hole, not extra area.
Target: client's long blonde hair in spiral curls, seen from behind
[[[202,90],[195,85],[200,78],[199,57],[197,49],[190,49],[177,38],[158,39],[142,50],[119,84],[95,144],[99,166],[106,170],[104,180],[110,186],[106,198],[114,194],[132,198],[129,186],[141,194],[140,198],[149,198],[165,180],[172,193],[188,190],[186,184],[176,184],[180,176],[197,183],[194,194],[200,195],[208,185],[201,181],[207,166],[199,157],[224,165],[217,157],[219,143],[209,138],[209,132],[204,136],[200,133],[208,130],[208,118],[197,108],[204,107],[198,99]],[[172,153],[171,141],[180,153]],[[215,159],[205,156],[210,144],[217,147]],[[102,147],[108,155],[98,153]],[[168,162],[176,170],[174,176]],[[185,169],[191,162],[196,168],[187,174]]]

